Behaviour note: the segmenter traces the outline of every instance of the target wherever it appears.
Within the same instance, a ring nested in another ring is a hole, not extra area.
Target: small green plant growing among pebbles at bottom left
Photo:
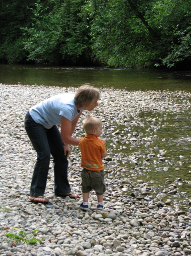
[[[16,241],[18,243],[30,243],[30,244],[35,244],[36,242],[42,242],[40,239],[37,239],[34,236],[34,234],[38,231],[38,229],[34,230],[32,234],[25,233],[24,230],[19,232],[19,235],[17,234],[6,234],[6,237],[10,238],[10,241]]]

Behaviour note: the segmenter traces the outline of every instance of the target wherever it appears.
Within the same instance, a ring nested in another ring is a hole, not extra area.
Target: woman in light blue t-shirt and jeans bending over
[[[54,159],[54,193],[56,196],[79,197],[71,193],[67,180],[69,144],[78,146],[79,139],[72,137],[83,110],[91,111],[98,106],[99,90],[82,85],[77,93],[63,93],[32,106],[26,114],[24,126],[37,161],[33,171],[29,201],[48,203],[44,196],[48,176],[50,154]],[[56,125],[61,125],[61,133]]]

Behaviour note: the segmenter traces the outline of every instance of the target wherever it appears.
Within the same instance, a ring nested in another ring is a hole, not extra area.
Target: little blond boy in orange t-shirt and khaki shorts
[[[88,199],[90,191],[95,190],[97,195],[97,209],[103,210],[103,194],[105,191],[104,166],[102,158],[105,158],[105,141],[98,137],[102,133],[102,122],[96,117],[87,117],[83,122],[86,136],[80,138],[79,147],[81,151],[82,196],[83,203],[79,208],[88,210]]]

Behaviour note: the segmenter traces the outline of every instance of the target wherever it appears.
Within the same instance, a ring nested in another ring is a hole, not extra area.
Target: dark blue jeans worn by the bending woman
[[[36,123],[29,112],[24,120],[24,127],[32,146],[37,152],[37,160],[31,182],[31,196],[43,196],[49,171],[50,154],[54,159],[54,193],[65,195],[71,192],[67,180],[68,161],[63,152],[63,142],[58,127],[54,125],[50,129]]]

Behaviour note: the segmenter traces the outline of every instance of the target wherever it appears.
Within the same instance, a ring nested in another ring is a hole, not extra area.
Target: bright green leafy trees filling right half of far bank
[[[190,6],[178,0],[90,0],[95,58],[111,67],[190,60]]]

